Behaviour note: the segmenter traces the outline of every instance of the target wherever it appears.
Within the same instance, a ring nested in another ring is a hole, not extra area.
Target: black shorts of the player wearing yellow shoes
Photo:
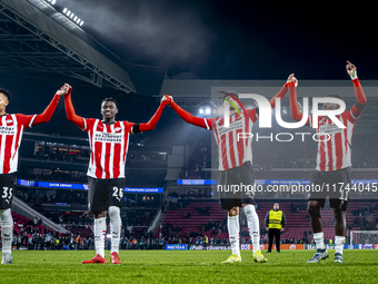
[[[240,167],[220,170],[218,178],[220,207],[230,210],[232,207],[241,207],[242,204],[255,204],[251,190],[253,185],[253,169],[250,161],[246,161]]]

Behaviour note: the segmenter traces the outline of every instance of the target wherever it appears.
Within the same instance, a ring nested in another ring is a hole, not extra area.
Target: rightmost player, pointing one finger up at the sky
[[[351,109],[344,111],[337,118],[341,121],[345,128],[339,128],[327,116],[319,116],[318,124],[318,155],[316,170],[311,176],[311,185],[328,186],[330,207],[334,208],[335,215],[335,263],[344,263],[342,247],[346,236],[346,215],[345,212],[348,205],[350,186],[350,167],[351,167],[351,137],[354,134],[355,124],[362,114],[366,105],[366,97],[362,87],[357,77],[357,68],[347,61],[347,71],[355,87],[357,101]],[[292,77],[290,79],[294,85],[290,90],[290,108],[291,117],[300,121],[302,114],[300,112],[296,87],[298,80]],[[328,95],[341,99],[338,95]],[[326,102],[322,109],[338,109],[337,104]],[[312,127],[312,117],[309,116],[306,126]],[[308,202],[308,212],[311,217],[311,226],[314,231],[314,239],[317,246],[315,255],[308,263],[318,263],[328,257],[328,252],[325,247],[320,208],[324,208],[328,192],[311,192]]]

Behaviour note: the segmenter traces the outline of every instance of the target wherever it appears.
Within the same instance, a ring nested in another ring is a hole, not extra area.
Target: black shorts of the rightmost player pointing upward
[[[346,210],[349,200],[349,190],[351,185],[350,168],[342,168],[332,172],[316,170],[311,176],[311,185],[317,185],[318,189],[311,190],[309,200],[317,200],[325,207],[326,198],[329,196],[331,208]],[[346,189],[347,188],[347,189]]]

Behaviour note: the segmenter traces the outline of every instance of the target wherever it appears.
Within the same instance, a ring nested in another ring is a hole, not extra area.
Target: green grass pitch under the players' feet
[[[345,251],[345,264],[330,258],[307,264],[314,251],[265,254],[265,264],[242,251],[242,263],[222,265],[226,251],[121,251],[121,265],[87,264],[93,251],[13,252],[12,265],[0,265],[0,283],[377,283],[377,251]]]

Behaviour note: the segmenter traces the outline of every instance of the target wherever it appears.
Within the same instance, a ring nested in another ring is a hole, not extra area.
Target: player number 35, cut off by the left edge
[[[11,204],[13,198],[14,176],[18,167],[19,148],[24,129],[48,123],[56,110],[60,96],[68,91],[64,86],[57,91],[50,105],[40,115],[8,114],[10,94],[0,89],[0,225],[2,238],[1,264],[12,263],[13,218]]]

